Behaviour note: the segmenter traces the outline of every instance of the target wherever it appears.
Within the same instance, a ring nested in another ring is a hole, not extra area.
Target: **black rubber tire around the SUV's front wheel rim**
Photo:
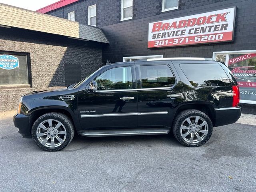
[[[42,145],[40,143],[40,141],[38,140],[37,136],[36,136],[36,130],[37,130],[39,124],[41,122],[43,122],[44,120],[48,120],[48,119],[53,119],[53,120],[60,121],[65,126],[66,132],[67,132],[66,139],[63,142],[63,144],[58,146],[58,147],[55,147],[55,148],[50,148],[50,147],[46,147],[46,146]],[[70,121],[70,119],[66,115],[61,114],[61,113],[47,113],[47,114],[44,114],[44,115],[40,116],[34,122],[34,124],[32,126],[32,138],[33,138],[34,142],[40,148],[42,148],[42,149],[44,149],[46,151],[59,151],[59,150],[62,150],[63,148],[65,148],[71,142],[73,137],[74,137],[74,128],[73,128],[72,122]]]

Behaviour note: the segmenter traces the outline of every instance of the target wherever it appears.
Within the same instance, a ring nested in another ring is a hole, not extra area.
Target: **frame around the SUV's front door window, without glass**
[[[132,89],[110,89],[110,90],[96,90],[94,91],[95,93],[100,93],[100,92],[123,92],[123,91],[136,91],[137,90],[137,85],[136,85],[136,74],[135,74],[135,70],[134,70],[134,65],[124,65],[124,66],[115,66],[112,68],[106,68],[106,70],[103,70],[99,75],[97,75],[96,77],[92,78],[92,81],[94,81],[96,78],[98,78],[101,74],[103,74],[104,72],[114,69],[114,68],[124,68],[124,67],[130,67],[131,68],[131,73],[132,73]],[[90,83],[89,83],[90,84]],[[87,86],[89,86],[89,84]]]

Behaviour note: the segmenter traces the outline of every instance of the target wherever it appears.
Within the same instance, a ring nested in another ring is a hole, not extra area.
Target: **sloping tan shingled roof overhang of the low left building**
[[[62,19],[0,3],[0,26],[16,27],[38,32],[57,34],[80,40],[109,43],[98,27],[82,25]]]

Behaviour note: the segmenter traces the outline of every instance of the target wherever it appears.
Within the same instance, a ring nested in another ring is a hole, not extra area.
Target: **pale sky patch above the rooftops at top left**
[[[58,1],[59,0],[0,0],[0,3],[35,11]]]

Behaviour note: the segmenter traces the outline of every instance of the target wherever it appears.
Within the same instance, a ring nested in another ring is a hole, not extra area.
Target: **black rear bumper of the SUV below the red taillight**
[[[235,123],[241,116],[241,107],[215,109],[216,122],[214,127]]]

